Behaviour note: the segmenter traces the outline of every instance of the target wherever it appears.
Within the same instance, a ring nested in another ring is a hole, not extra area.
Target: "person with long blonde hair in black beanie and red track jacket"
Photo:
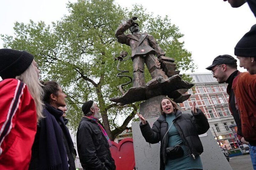
[[[34,56],[0,49],[0,169],[28,169],[43,90]]]

